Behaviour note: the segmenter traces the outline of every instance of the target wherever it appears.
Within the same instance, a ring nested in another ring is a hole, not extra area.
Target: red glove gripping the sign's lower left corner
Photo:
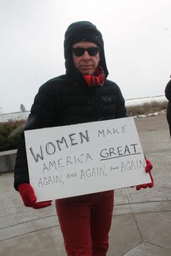
[[[32,207],[34,209],[44,208],[51,205],[52,201],[36,202],[37,198],[34,194],[34,189],[29,183],[22,183],[18,186],[20,196],[22,197],[23,204],[26,207]]]

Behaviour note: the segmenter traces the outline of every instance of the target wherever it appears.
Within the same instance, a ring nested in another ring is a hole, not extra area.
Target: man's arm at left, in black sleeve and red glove
[[[34,104],[31,107],[31,113],[28,117],[28,122],[25,125],[25,130],[33,130],[56,125],[58,119],[54,118],[54,116],[57,117],[57,113],[54,113],[54,108],[52,107],[51,93],[51,88],[47,88],[47,86],[44,85],[40,87],[39,93],[37,93],[34,99]],[[24,133],[22,133],[22,136],[20,137],[19,147],[17,149],[16,165],[14,170],[14,188],[19,191],[26,207],[43,208],[51,205],[51,201],[41,203],[36,202],[37,198],[34,194],[33,187],[30,185],[30,178],[28,174]]]

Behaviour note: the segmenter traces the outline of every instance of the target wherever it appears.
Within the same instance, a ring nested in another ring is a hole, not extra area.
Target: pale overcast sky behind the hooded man
[[[108,79],[125,99],[164,95],[170,12],[170,0],[0,0],[1,113],[30,110],[39,87],[65,73],[64,33],[78,20],[101,31]]]

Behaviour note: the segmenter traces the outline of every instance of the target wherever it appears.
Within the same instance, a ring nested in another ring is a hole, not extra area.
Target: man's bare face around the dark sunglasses
[[[72,48],[91,48],[98,47],[95,43],[91,42],[78,42],[75,43]],[[95,56],[89,55],[89,52],[85,51],[82,56],[76,56],[72,53],[73,64],[76,69],[82,73],[82,75],[94,75],[100,61],[99,52]]]

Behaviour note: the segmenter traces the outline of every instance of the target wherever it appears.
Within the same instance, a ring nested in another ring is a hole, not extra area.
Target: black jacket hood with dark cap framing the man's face
[[[105,72],[105,77],[108,76],[107,64],[105,61],[104,40],[102,39],[101,32],[96,28],[93,23],[89,21],[74,22],[69,25],[64,35],[64,58],[66,74],[74,80],[81,75],[75,68],[72,60],[72,45],[76,42],[87,41],[96,43],[100,47],[101,60],[99,65]]]

